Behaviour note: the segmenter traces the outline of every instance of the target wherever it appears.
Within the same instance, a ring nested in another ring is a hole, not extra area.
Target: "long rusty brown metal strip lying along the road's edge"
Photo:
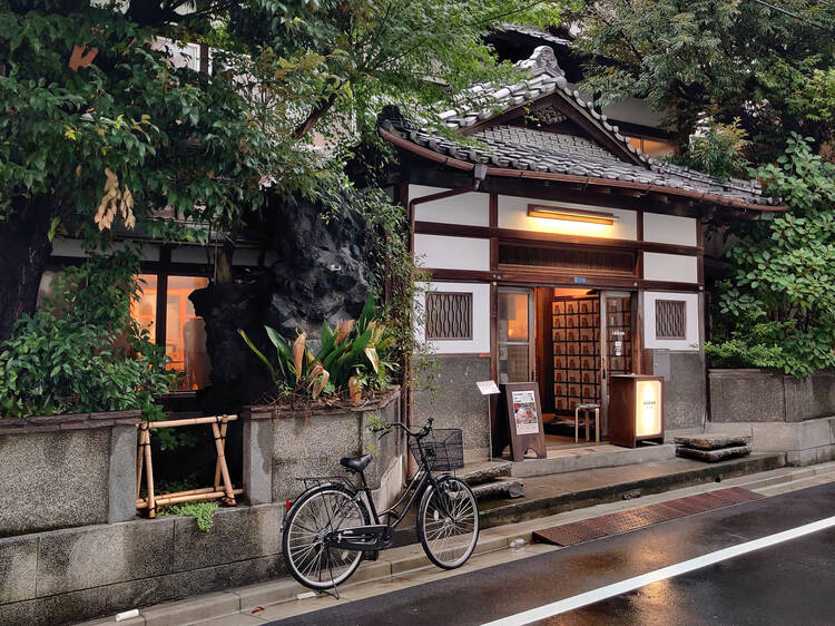
[[[666,502],[648,505],[628,511],[609,513],[596,518],[562,524],[551,528],[533,531],[533,540],[540,544],[553,544],[557,546],[573,546],[590,539],[599,539],[608,535],[618,535],[646,528],[654,524],[670,521],[680,517],[721,509],[731,505],[740,505],[763,498],[759,493],[734,487],[719,489],[677,498]]]

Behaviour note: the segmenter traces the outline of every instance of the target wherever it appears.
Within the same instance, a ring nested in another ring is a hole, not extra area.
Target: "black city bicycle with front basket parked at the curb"
[[[365,481],[371,454],[340,460],[348,473],[358,476],[358,486],[340,478],[305,479],[314,486],[293,502],[282,524],[282,551],[287,570],[298,583],[318,591],[335,589],[356,571],[363,552],[392,547],[394,529],[419,496],[418,538],[429,559],[443,569],[466,563],[479,540],[475,496],[453,475],[432,475],[463,467],[461,430],[433,430],[432,421],[430,418],[419,430],[402,422],[374,429],[385,431],[382,439],[395,427],[401,428],[413,438],[409,446],[419,461],[404,493],[380,513]],[[406,497],[407,502],[397,512]],[[381,516],[385,516],[385,524]]]

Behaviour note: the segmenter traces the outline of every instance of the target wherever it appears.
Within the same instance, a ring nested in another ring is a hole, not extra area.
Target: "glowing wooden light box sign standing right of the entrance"
[[[612,374],[609,442],[635,448],[639,441],[664,441],[664,378]]]

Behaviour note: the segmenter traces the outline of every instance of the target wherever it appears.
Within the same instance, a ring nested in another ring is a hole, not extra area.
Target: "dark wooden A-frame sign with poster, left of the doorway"
[[[502,388],[511,458],[521,461],[528,450],[533,450],[538,459],[544,459],[548,450],[542,428],[539,385],[536,382],[509,382]]]

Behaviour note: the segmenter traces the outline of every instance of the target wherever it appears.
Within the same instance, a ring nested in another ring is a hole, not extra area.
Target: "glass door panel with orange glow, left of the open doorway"
[[[499,382],[533,380],[533,303],[530,290],[500,288]]]

